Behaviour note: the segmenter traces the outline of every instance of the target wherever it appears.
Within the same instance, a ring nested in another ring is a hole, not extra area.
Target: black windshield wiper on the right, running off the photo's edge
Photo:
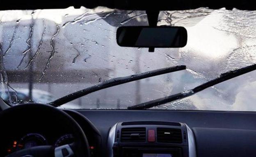
[[[162,105],[162,104],[166,104],[166,103],[169,103],[169,102],[173,102],[175,100],[183,99],[185,97],[189,97],[191,95],[194,95],[195,93],[203,91],[206,88],[209,88],[211,86],[214,86],[214,85],[219,84],[221,82],[224,82],[226,80],[232,79],[234,77],[243,75],[245,73],[249,73],[249,72],[254,71],[254,70],[256,70],[256,64],[246,66],[246,67],[241,68],[241,69],[236,69],[234,71],[229,71],[229,72],[226,72],[226,73],[222,73],[221,75],[219,75],[219,77],[217,77],[213,80],[210,80],[210,81],[208,81],[204,84],[201,84],[201,85],[199,85],[199,86],[197,86],[197,87],[195,87],[191,90],[183,91],[181,93],[177,93],[177,94],[174,94],[174,95],[169,95],[167,97],[162,97],[160,99],[152,100],[152,101],[149,101],[149,102],[144,102],[142,104],[137,104],[137,105],[134,105],[134,106],[130,106],[127,109],[131,109],[131,110],[146,109],[146,108],[151,108],[151,107],[154,107],[154,106],[159,106],[159,105]]]

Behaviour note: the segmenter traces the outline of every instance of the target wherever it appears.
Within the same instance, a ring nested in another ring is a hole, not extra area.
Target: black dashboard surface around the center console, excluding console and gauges
[[[100,131],[103,141],[102,157],[111,157],[112,154],[112,148],[108,146],[110,128],[119,122],[134,121],[186,124],[194,135],[197,157],[255,157],[255,112],[165,110],[78,110],[78,112],[90,119]]]

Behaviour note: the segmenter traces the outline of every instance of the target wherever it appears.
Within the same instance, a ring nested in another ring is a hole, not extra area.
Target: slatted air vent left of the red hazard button
[[[122,128],[121,142],[145,142],[146,128]]]

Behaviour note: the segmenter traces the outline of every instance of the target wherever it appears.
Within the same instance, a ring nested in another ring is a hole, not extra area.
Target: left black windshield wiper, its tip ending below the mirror
[[[163,68],[163,69],[157,69],[157,70],[153,70],[153,71],[147,71],[144,73],[139,73],[139,74],[135,74],[135,75],[130,75],[130,76],[125,76],[125,77],[117,77],[117,78],[113,78],[110,80],[107,80],[101,84],[97,84],[95,86],[91,86],[85,89],[82,89],[81,91],[77,91],[75,93],[71,93],[69,95],[66,95],[64,97],[61,97],[53,102],[48,103],[49,105],[58,107],[61,106],[67,102],[71,102],[72,100],[75,100],[79,97],[85,96],[87,94],[93,93],[95,91],[99,91],[101,89],[105,89],[105,88],[109,88],[112,86],[117,86],[120,84],[125,84],[128,82],[133,82],[136,80],[141,80],[144,78],[149,78],[149,77],[153,77],[153,76],[157,76],[157,75],[162,75],[162,74],[166,74],[166,73],[171,73],[174,71],[181,71],[181,70],[185,70],[186,66],[185,65],[180,65],[180,66],[173,66],[173,67],[169,67],[169,68]]]

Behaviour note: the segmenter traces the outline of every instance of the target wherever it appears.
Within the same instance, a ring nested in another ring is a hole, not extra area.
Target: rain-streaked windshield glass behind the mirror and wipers
[[[0,11],[0,95],[10,105],[49,103],[110,80],[176,65],[155,76],[80,97],[64,108],[115,108],[189,90],[221,73],[256,63],[256,12],[225,8],[160,11],[158,26],[183,26],[187,45],[120,47],[120,26],[146,26],[145,11],[45,9]],[[256,111],[256,72],[151,109]]]

